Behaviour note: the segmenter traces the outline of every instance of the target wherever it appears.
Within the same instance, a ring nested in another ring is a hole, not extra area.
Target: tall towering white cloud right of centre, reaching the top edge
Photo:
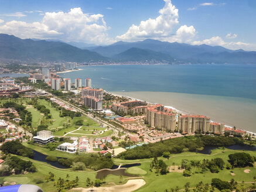
[[[178,9],[170,0],[164,0],[165,6],[159,10],[159,16],[155,19],[142,20],[139,25],[132,25],[128,31],[117,40],[136,41],[146,38],[165,40],[168,42],[190,42],[196,30],[193,26],[180,26],[176,33],[175,28],[179,25]]]

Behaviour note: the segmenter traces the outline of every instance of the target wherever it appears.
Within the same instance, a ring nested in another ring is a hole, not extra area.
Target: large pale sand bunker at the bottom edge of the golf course
[[[79,192],[87,192],[87,191],[95,191],[95,192],[132,192],[137,190],[138,188],[144,186],[146,182],[143,179],[134,179],[128,180],[127,183],[122,185],[115,185],[112,187],[93,187],[93,188],[73,188],[70,191],[79,191]]]

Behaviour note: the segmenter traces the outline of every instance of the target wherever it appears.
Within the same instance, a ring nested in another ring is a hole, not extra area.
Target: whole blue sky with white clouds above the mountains
[[[107,45],[156,39],[256,51],[255,0],[0,0],[0,33]]]

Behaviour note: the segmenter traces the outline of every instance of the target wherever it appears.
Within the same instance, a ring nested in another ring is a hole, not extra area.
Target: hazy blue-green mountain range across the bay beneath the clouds
[[[72,44],[72,45],[71,45]],[[206,44],[191,45],[146,39],[109,46],[58,40],[20,39],[0,34],[0,59],[40,61],[165,61],[166,63],[256,63],[256,52]],[[80,48],[78,48],[80,47]],[[82,47],[86,47],[81,49]]]

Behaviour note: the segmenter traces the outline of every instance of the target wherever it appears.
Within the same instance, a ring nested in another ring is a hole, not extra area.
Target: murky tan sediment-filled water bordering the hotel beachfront
[[[171,106],[188,114],[206,115],[211,118],[211,121],[256,132],[253,121],[256,116],[255,100],[176,92],[134,91],[112,93]]]

